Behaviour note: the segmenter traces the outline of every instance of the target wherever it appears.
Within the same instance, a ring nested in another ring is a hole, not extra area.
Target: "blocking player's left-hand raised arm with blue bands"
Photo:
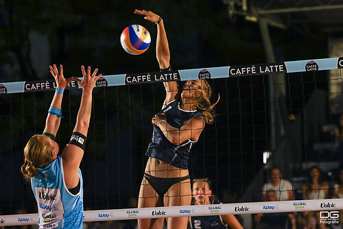
[[[50,66],[50,73],[54,76],[56,80],[57,88],[54,95],[54,99],[52,99],[51,101],[49,113],[47,114],[44,133],[56,136],[58,128],[60,128],[60,109],[62,106],[63,91],[64,88],[66,88],[68,84],[71,82],[71,80],[73,80],[73,77],[69,79],[64,78],[62,64],[60,65],[60,71],[58,71],[56,64],[54,64],[54,67]]]

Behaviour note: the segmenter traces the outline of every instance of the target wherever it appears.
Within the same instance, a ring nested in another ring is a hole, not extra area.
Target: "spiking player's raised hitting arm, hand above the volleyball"
[[[160,69],[167,69],[170,67],[170,51],[168,45],[167,34],[165,32],[165,25],[161,16],[146,10],[134,10],[135,14],[145,15],[144,19],[157,25],[157,38],[156,38],[156,58]],[[178,99],[178,83],[176,81],[163,82],[165,86],[165,102],[163,108],[170,101]]]

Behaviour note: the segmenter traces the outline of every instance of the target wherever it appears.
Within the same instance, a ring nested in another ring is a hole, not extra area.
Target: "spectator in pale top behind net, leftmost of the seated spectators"
[[[272,167],[268,173],[268,182],[263,185],[263,201],[267,201],[267,190],[276,193],[277,200],[293,200],[294,191],[291,182],[281,178],[281,171],[278,167]]]

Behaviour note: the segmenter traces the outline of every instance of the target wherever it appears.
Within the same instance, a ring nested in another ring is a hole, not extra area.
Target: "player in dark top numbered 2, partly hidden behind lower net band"
[[[192,203],[195,205],[222,204],[211,190],[211,182],[208,178],[198,178],[192,180]],[[243,229],[235,215],[206,215],[189,217],[191,228],[194,229],[221,229],[230,228]]]

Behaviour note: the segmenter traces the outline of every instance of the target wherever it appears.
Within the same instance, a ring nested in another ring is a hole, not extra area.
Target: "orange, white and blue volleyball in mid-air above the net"
[[[150,33],[141,25],[130,25],[120,35],[121,47],[132,55],[139,55],[150,45]]]

